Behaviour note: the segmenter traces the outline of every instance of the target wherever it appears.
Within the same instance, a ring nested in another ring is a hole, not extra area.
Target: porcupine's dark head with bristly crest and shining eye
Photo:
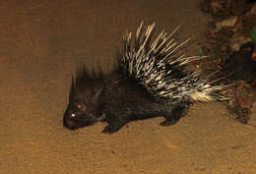
[[[63,117],[63,124],[69,129],[90,126],[100,116],[99,94],[102,90],[101,75],[83,69],[72,77],[69,104]],[[98,116],[98,118],[96,118]]]

